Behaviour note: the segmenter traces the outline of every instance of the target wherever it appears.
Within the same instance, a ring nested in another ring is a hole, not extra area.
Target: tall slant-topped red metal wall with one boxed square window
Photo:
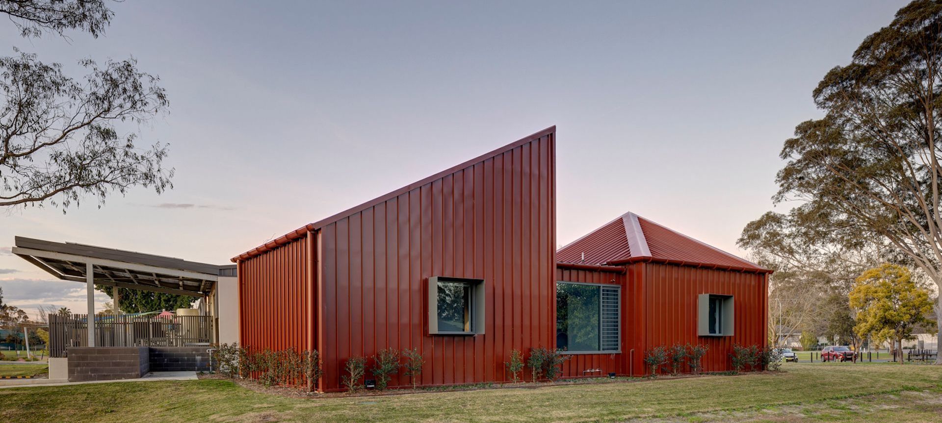
[[[321,229],[327,390],[342,389],[349,357],[385,348],[422,350],[420,383],[434,385],[505,381],[512,349],[552,346],[554,138],[545,132]],[[485,334],[427,334],[430,276],[484,279]],[[408,383],[400,373],[390,385]]]

